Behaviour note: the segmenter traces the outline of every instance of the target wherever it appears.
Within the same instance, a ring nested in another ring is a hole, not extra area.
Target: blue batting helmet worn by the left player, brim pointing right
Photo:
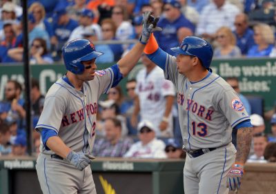
[[[93,43],[87,39],[75,39],[63,46],[62,55],[67,70],[75,74],[82,74],[84,66],[81,61],[95,59],[103,53],[97,52]]]

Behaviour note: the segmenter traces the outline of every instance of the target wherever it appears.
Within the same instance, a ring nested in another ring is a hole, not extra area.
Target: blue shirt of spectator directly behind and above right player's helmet
[[[172,22],[168,21],[165,17],[161,17],[158,26],[163,30],[161,32],[155,32],[155,38],[157,39],[159,47],[170,55],[176,55],[170,48],[179,45],[177,39],[177,30],[179,28],[186,27],[195,32],[195,26],[183,14]]]

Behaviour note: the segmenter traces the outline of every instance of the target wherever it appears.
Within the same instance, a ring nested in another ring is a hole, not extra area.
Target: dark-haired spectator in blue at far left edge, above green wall
[[[15,60],[8,56],[8,50],[17,48],[16,35],[11,23],[6,23],[3,26],[3,31],[5,39],[0,43],[0,63],[12,63]]]

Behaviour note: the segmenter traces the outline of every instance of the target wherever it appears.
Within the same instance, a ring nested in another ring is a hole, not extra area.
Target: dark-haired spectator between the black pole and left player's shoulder
[[[32,77],[31,79],[30,100],[32,102],[32,115],[39,117],[43,110],[43,104],[45,97],[41,95],[39,88],[39,81]]]

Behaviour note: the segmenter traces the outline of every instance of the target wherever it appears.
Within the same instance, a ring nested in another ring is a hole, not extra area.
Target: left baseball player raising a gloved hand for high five
[[[144,14],[143,34],[128,54],[106,70],[96,71],[97,52],[86,39],[63,46],[63,61],[68,72],[48,90],[36,126],[41,133],[41,154],[37,175],[46,193],[96,193],[90,169],[95,141],[97,101],[102,93],[116,86],[135,66],[150,37],[160,30],[158,18]]]

